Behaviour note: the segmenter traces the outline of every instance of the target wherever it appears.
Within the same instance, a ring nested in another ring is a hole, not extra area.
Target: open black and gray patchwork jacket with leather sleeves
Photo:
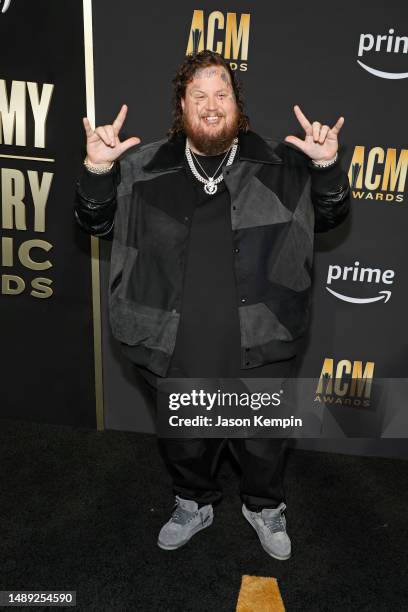
[[[168,372],[180,321],[194,212],[188,171],[179,134],[128,150],[108,174],[84,167],[76,183],[78,224],[113,241],[113,335],[159,376]],[[223,175],[231,198],[241,367],[253,368],[298,351],[309,319],[314,232],[343,221],[350,186],[339,161],[317,168],[289,143],[252,131],[239,134],[235,161],[223,166]]]

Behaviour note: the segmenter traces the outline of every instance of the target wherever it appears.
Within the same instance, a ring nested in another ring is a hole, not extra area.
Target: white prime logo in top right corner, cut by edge
[[[394,36],[394,28],[388,30],[388,34],[381,35],[377,34],[360,34],[360,40],[358,45],[358,56],[363,57],[365,54],[369,54],[370,63],[377,63],[378,55],[380,58],[384,54],[393,53],[395,55],[406,55],[408,53],[408,37],[407,36]],[[370,74],[379,77],[380,79],[406,79],[408,78],[408,72],[397,72],[397,71],[385,71],[379,70],[373,65],[363,63],[361,60],[357,60],[357,64],[366,70]]]

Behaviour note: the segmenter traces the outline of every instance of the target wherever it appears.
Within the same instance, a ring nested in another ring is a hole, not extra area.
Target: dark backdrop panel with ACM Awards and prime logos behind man
[[[111,122],[121,104],[126,103],[129,111],[123,137],[137,135],[143,142],[149,142],[165,135],[171,120],[171,78],[186,54],[193,14],[197,10],[202,11],[205,26],[214,17],[217,25],[222,25],[222,19],[225,25],[228,13],[234,14],[238,25],[243,14],[250,15],[248,57],[242,58],[238,53],[229,59],[235,62],[244,86],[252,129],[275,138],[291,133],[301,135],[292,110],[294,104],[299,104],[311,120],[330,125],[343,115],[340,155],[353,184],[357,164],[364,162],[357,175],[357,188],[353,188],[349,220],[316,240],[314,308],[301,376],[318,379],[327,360],[333,360],[335,373],[339,362],[345,360],[351,368],[361,366],[363,371],[366,366],[371,368],[374,383],[385,377],[407,377],[405,233],[408,211],[403,127],[407,79],[378,77],[358,63],[359,60],[387,72],[406,71],[405,49],[387,51],[387,43],[394,44],[392,38],[385,39],[382,47],[375,50],[377,36],[391,36],[390,28],[394,28],[395,35],[408,36],[404,3],[398,0],[385,6],[372,2],[367,11],[366,6],[349,0],[340,4],[322,0],[286,4],[207,1],[199,5],[181,1],[176,5],[163,2],[148,7],[130,0],[121,0],[115,5],[99,1],[94,3],[93,10],[98,124]],[[115,31],[120,36],[115,36]],[[205,37],[206,34],[207,30]],[[363,38],[363,35],[366,36]],[[214,44],[218,42],[225,43],[225,28],[215,30]],[[372,50],[368,50],[370,44]],[[361,55],[360,46],[367,47]],[[394,49],[392,45],[391,49]],[[243,64],[246,69],[240,70]],[[357,158],[360,152],[363,156]],[[379,163],[381,155],[384,163]],[[399,185],[384,182],[387,160],[394,163],[391,170],[398,169],[400,164]],[[376,175],[383,188],[367,189],[370,179]],[[361,188],[358,188],[359,180]],[[106,305],[110,252],[106,241],[102,252]],[[343,275],[347,266],[379,272],[367,272],[363,281],[358,278],[353,281],[353,273],[349,272],[351,280],[340,277],[328,283],[329,266],[337,266],[332,268],[334,276]],[[387,270],[392,271],[385,277],[392,279],[391,284],[382,282],[382,274]],[[378,274],[381,281],[377,283]],[[354,303],[334,296],[327,288],[351,298],[380,298]],[[387,290],[391,291],[391,297],[385,302],[381,291]],[[106,306],[103,330],[106,426],[153,431],[143,396],[135,387],[137,380],[110,334]],[[349,400],[354,402],[358,398],[349,397]],[[395,438],[301,440],[299,445],[407,456],[405,440]]]

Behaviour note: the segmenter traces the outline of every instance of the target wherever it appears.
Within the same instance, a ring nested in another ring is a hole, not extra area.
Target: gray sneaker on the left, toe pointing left
[[[157,544],[164,550],[174,550],[186,544],[189,539],[209,527],[213,522],[211,504],[198,509],[197,502],[176,495],[176,507],[165,525],[160,529]]]

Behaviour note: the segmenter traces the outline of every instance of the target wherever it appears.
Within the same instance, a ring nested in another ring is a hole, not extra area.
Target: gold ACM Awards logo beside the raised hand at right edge
[[[404,202],[408,149],[354,147],[348,171],[355,199]]]

